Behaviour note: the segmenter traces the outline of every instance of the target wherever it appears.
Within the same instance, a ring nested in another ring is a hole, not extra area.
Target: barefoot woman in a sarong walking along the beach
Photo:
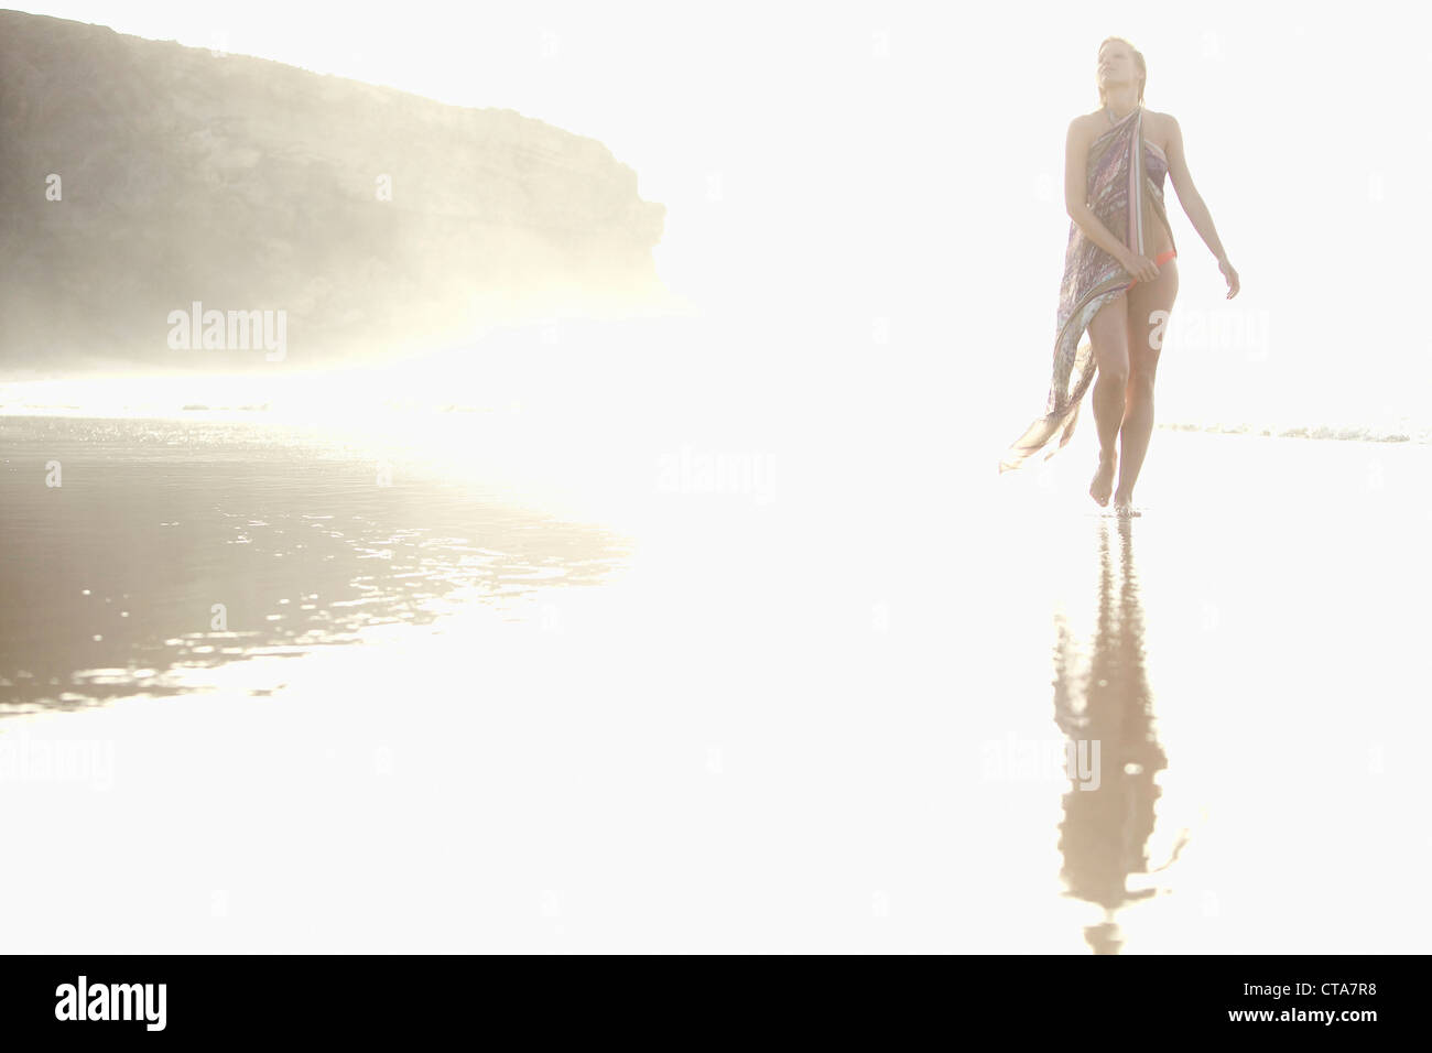
[[[1127,40],[1110,37],[1100,44],[1103,105],[1070,122],[1065,142],[1064,201],[1073,222],[1060,289],[1054,380],[1044,415],[1000,461],[1001,473],[1015,468],[1063,430],[1045,460],[1058,453],[1074,434],[1080,401],[1097,374],[1100,453],[1088,491],[1100,506],[1108,504],[1113,491],[1114,510],[1123,516],[1140,514],[1133,507],[1134,483],[1154,427],[1163,328],[1179,292],[1177,252],[1163,203],[1164,172],[1193,229],[1219,261],[1229,282],[1227,298],[1239,294],[1239,272],[1189,175],[1179,122],[1143,106],[1147,76],[1144,56]],[[1090,342],[1080,347],[1085,330]]]

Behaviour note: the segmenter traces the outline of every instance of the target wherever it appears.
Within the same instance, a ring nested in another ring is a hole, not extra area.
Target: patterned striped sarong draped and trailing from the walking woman
[[[1150,222],[1169,228],[1164,215],[1163,186],[1146,169],[1144,107],[1136,106],[1123,120],[1104,132],[1088,150],[1088,205],[1110,234],[1130,251],[1147,255],[1146,236]],[[1169,231],[1173,244],[1173,231]],[[1133,287],[1133,277],[1098,245],[1070,222],[1068,248],[1064,252],[1064,281],[1060,287],[1058,327],[1054,338],[1054,378],[1044,405],[1044,415],[1030,424],[1000,461],[1000,471],[1020,467],[1028,457],[1044,448],[1058,434],[1058,444],[1048,460],[1074,434],[1078,407],[1094,383],[1097,365],[1094,348],[1080,347],[1084,331],[1108,301]],[[1070,381],[1073,378],[1073,388]],[[1063,433],[1063,434],[1060,434]]]

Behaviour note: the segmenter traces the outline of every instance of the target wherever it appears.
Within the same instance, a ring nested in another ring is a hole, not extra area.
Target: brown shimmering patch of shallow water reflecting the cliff
[[[590,585],[624,552],[305,428],[29,417],[0,421],[0,446],[11,711],[182,693],[221,666],[431,623],[458,596]]]

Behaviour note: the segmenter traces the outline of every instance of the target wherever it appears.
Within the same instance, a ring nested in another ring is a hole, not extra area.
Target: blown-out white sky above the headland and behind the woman
[[[1249,418],[1418,411],[1432,277],[1428,14],[1415,6],[33,0],[40,14],[259,54],[606,143],[667,205],[657,265],[710,304],[779,294],[813,325],[888,322],[1008,408],[1048,380],[1068,219],[1064,129],[1100,40],[1150,63],[1243,278],[1229,305],[1166,185],[1180,251],[1174,400]],[[884,54],[882,54],[884,50]],[[712,188],[719,185],[719,201]],[[1243,337],[1199,344],[1179,325]],[[1266,338],[1259,334],[1266,334]],[[1042,390],[1034,405],[1042,401]],[[1167,408],[1173,403],[1163,403]],[[1243,407],[1243,408],[1240,408]],[[1423,415],[1426,413],[1423,411]],[[1166,414],[1160,411],[1160,417]]]

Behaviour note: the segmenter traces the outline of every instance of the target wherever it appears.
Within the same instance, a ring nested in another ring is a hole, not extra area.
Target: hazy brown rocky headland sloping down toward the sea
[[[646,309],[664,213],[601,143],[513,110],[0,11],[11,372],[265,365],[176,350],[196,301],[282,311],[291,365]]]

